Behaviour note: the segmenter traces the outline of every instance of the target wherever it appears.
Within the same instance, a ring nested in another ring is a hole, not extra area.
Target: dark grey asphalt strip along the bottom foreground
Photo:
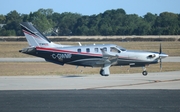
[[[180,112],[180,90],[0,91],[0,112]]]

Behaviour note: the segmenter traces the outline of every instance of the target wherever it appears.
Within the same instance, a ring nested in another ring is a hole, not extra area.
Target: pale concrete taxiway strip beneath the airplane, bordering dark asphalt
[[[180,71],[135,74],[1,76],[0,90],[180,89]]]

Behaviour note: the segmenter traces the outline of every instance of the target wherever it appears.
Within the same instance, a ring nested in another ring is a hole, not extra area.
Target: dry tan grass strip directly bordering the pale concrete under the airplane
[[[139,73],[142,68],[130,68],[128,66],[113,66],[111,74]],[[180,70],[180,63],[163,63],[162,72]],[[0,76],[34,76],[34,75],[70,75],[70,74],[99,74],[100,68],[78,67],[71,65],[56,65],[48,62],[3,62],[0,63]],[[147,67],[148,72],[159,72],[159,64]]]

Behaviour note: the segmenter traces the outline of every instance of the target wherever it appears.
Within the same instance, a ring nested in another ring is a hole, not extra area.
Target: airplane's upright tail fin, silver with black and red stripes
[[[31,47],[50,47],[51,41],[30,22],[22,22],[21,28]]]

